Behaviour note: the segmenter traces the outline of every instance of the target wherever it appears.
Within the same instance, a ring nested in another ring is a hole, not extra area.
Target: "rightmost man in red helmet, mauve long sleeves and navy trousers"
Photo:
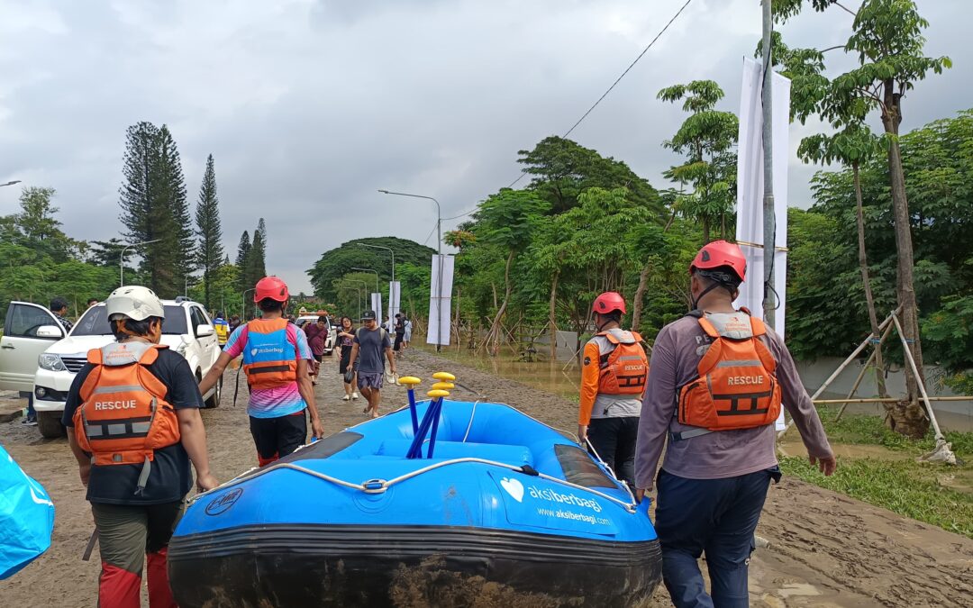
[[[656,531],[663,581],[682,606],[747,606],[753,532],[773,479],[775,419],[794,418],[811,464],[837,463],[794,360],[774,330],[736,309],[746,259],[736,244],[703,246],[690,267],[693,310],[652,349],[635,454],[636,498],[659,472]],[[706,556],[710,593],[697,560]]]

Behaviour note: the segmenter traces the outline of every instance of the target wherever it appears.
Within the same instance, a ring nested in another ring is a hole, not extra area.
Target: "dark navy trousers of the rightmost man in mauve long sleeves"
[[[753,532],[774,467],[722,480],[689,480],[659,472],[656,532],[663,550],[663,582],[676,608],[745,607]],[[710,594],[697,560],[706,554]]]

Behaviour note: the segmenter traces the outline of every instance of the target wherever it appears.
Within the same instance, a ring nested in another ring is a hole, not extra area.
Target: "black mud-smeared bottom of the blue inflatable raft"
[[[172,539],[182,608],[647,605],[658,541],[481,528],[247,526]]]

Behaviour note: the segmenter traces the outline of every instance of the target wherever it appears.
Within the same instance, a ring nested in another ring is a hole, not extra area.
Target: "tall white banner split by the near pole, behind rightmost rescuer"
[[[790,80],[776,72],[773,79],[773,154],[775,245],[787,246],[787,161],[790,154]],[[737,240],[746,256],[746,281],[740,285],[738,306],[746,306],[764,316],[764,249],[743,243],[764,242],[764,73],[761,63],[743,59],[743,86],[739,104],[739,148],[737,154]],[[774,253],[774,291],[776,292],[775,332],[784,335],[784,303],[787,286],[787,252]],[[780,411],[776,428],[784,428]]]

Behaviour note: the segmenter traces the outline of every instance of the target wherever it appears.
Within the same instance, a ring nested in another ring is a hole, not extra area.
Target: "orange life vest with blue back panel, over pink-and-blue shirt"
[[[287,319],[254,319],[246,324],[243,371],[250,388],[276,388],[298,379],[297,345],[287,337]]]

